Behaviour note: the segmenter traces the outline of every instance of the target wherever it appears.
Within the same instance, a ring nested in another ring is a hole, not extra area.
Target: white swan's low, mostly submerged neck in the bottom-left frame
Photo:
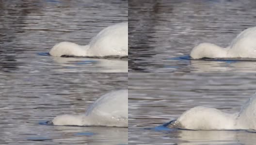
[[[51,121],[47,121],[49,125],[82,125],[82,116],[78,115],[60,115],[53,118]]]

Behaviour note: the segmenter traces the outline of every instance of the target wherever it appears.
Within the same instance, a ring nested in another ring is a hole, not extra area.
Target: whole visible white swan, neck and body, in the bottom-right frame
[[[170,126],[188,130],[256,130],[256,94],[240,112],[225,113],[199,106],[185,111]]]

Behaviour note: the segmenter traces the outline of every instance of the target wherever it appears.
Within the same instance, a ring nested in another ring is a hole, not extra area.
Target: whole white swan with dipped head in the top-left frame
[[[88,45],[61,42],[54,45],[49,54],[78,57],[128,56],[128,22],[118,23],[101,30]]]

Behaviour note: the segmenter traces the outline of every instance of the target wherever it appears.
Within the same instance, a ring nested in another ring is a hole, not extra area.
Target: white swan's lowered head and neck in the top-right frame
[[[194,59],[226,58],[227,49],[212,43],[200,43],[192,49],[190,56]]]

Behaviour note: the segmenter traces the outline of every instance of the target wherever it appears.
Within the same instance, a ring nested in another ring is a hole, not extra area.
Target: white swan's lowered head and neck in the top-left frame
[[[76,43],[61,42],[61,43],[54,45],[51,48],[49,54],[54,57],[61,57],[64,55],[86,56],[86,49],[83,47]]]

